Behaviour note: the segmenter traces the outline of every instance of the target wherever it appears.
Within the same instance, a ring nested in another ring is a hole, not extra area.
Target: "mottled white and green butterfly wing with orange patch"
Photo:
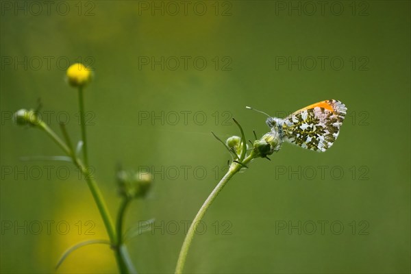
[[[345,114],[345,105],[333,99],[308,105],[284,119],[284,141],[324,152],[338,137]]]

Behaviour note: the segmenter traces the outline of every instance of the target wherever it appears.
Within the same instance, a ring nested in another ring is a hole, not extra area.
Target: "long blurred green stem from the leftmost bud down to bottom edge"
[[[111,216],[109,214],[108,208],[105,204],[105,200],[103,199],[103,195],[101,194],[100,188],[97,185],[97,182],[93,177],[90,175],[89,169],[86,167],[85,164],[79,160],[79,158],[75,157],[74,151],[69,149],[69,147],[58,137],[55,132],[43,121],[40,121],[38,124],[38,127],[40,129],[43,129],[49,136],[50,138],[67,154],[73,159],[73,163],[77,166],[77,168],[82,172],[84,175],[88,188],[90,189],[90,192],[92,194],[92,197],[95,200],[95,203],[97,205],[97,208],[99,209],[101,218],[103,219],[103,223],[105,225],[105,229],[107,230],[107,234],[110,238],[110,242],[112,244],[112,247],[114,248],[114,254],[116,256],[116,262],[119,266],[119,269],[121,273],[129,273],[127,269],[127,264],[124,262],[123,256],[121,256],[121,248],[116,245],[116,231],[114,230],[114,225],[111,219]],[[66,137],[67,138],[67,137]],[[84,143],[85,145],[85,143]]]

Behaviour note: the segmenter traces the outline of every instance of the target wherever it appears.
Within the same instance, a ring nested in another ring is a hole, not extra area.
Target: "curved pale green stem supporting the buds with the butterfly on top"
[[[251,153],[251,155],[249,155],[247,158],[245,158],[242,161],[242,164],[246,165],[248,162],[253,160],[253,158],[255,158],[255,156],[253,155],[253,153]],[[227,173],[221,179],[219,184],[216,185],[214,190],[212,190],[212,192],[210,193],[206,201],[203,203],[203,206],[201,206],[199,212],[197,212],[197,215],[195,216],[194,220],[192,220],[192,223],[190,227],[188,228],[186,238],[184,238],[182,249],[180,250],[180,253],[177,259],[177,266],[175,267],[176,274],[181,274],[183,272],[184,264],[186,263],[186,258],[188,254],[188,249],[190,249],[192,238],[194,238],[197,226],[199,225],[199,221],[203,219],[204,214],[206,214],[211,203],[214,201],[214,199],[216,199],[217,195],[219,195],[221,190],[224,188],[225,184],[227,184],[229,179],[231,179],[236,173],[238,173],[238,171],[240,171],[242,167],[243,166],[241,164],[237,164],[235,162],[232,163]]]

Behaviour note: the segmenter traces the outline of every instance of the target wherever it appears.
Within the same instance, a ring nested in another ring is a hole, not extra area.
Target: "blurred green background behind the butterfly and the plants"
[[[155,219],[127,243],[140,273],[174,271],[185,224],[223,175],[229,155],[211,131],[238,135],[235,117],[253,139],[269,128],[245,105],[284,116],[324,99],[348,108],[334,147],[284,145],[236,175],[185,271],[410,273],[410,1],[47,7],[1,1],[1,273],[53,272],[71,245],[107,238],[71,164],[21,160],[59,147],[11,119],[40,98],[51,127],[60,134],[69,119],[77,142],[77,92],[64,81],[75,62],[95,70],[85,93],[90,164],[112,216],[116,164],[155,172],[149,197],[127,214],[127,227]],[[110,249],[94,245],[57,272],[116,271]]]

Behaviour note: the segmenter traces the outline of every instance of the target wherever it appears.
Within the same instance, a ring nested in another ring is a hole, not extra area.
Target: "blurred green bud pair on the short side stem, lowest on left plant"
[[[129,199],[144,198],[152,183],[151,173],[119,171],[116,175],[120,195]]]

